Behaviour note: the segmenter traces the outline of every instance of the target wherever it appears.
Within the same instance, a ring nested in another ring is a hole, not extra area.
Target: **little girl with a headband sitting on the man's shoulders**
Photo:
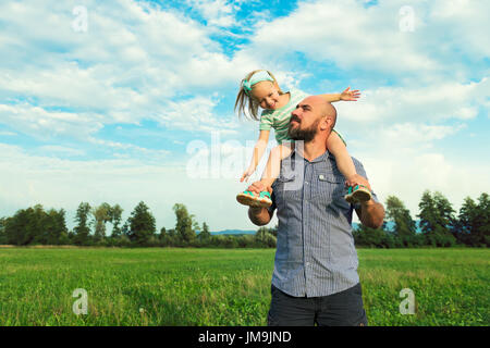
[[[321,95],[321,97],[328,102],[340,100],[355,101],[359,98],[359,95],[358,90],[350,90],[348,87],[342,94]],[[242,80],[242,86],[236,97],[235,110],[238,108],[240,115],[248,113],[252,119],[260,121],[260,134],[254,148],[250,165],[243,173],[241,182],[247,181],[257,169],[266,151],[270,128],[273,128],[279,146],[271,150],[266,171],[260,179],[266,187],[272,185],[279,176],[281,160],[292,152],[292,144],[287,142],[290,140],[287,128],[291,113],[296,109],[299,101],[306,97],[305,92],[297,89],[283,92],[274,76],[268,71],[254,71]],[[264,109],[260,117],[257,116],[259,107]],[[354,162],[347,152],[344,140],[333,129],[327,139],[327,149],[335,157],[336,165],[350,186],[345,199],[351,203],[369,200],[371,198],[369,189],[363,185],[356,185],[358,175]],[[255,196],[250,191],[243,191],[236,196],[236,200],[245,206],[269,207],[272,204],[268,191],[262,191],[259,196]]]

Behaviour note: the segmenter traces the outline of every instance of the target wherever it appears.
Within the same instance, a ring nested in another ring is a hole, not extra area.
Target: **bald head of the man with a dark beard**
[[[336,121],[336,110],[320,96],[303,99],[291,114],[287,135],[293,140],[311,141],[315,136],[328,138]]]

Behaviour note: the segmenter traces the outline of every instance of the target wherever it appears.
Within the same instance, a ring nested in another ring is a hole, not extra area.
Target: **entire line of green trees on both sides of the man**
[[[405,204],[395,196],[385,201],[382,228],[359,225],[353,231],[355,245],[373,248],[488,247],[490,245],[490,200],[481,194],[477,201],[467,197],[458,213],[439,191],[426,190],[418,204],[419,229]],[[0,219],[0,245],[75,245],[105,247],[223,247],[274,248],[278,226],[260,227],[255,235],[211,235],[206,222],[200,225],[182,203],[173,206],[175,226],[157,233],[156,219],[145,202],[139,202],[122,224],[123,209],[102,203],[79,203],[75,227],[66,227],[65,211],[45,210],[37,204]],[[391,222],[391,227],[388,227]],[[108,233],[108,224],[112,226]]]

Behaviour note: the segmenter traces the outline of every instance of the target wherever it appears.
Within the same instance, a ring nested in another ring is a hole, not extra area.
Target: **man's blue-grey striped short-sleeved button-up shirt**
[[[357,174],[363,164],[353,158]],[[294,167],[293,167],[294,166]],[[272,185],[279,229],[272,284],[295,297],[319,297],[359,283],[352,235],[354,207],[344,199],[344,176],[326,151],[311,162],[296,150]],[[372,199],[378,198],[372,194]]]

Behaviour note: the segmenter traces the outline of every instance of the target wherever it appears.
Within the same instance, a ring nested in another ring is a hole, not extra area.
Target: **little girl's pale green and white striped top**
[[[291,89],[290,101],[281,109],[264,110],[260,115],[260,130],[274,129],[275,140],[281,144],[284,140],[289,140],[287,128],[290,126],[291,113],[296,110],[296,105],[308,97],[307,94],[299,89]]]

